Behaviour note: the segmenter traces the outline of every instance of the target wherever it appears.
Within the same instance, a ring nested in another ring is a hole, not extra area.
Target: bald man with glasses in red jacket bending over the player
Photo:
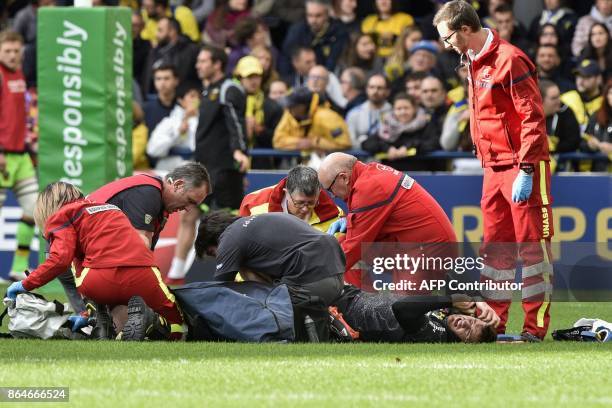
[[[344,280],[355,286],[362,286],[360,274],[353,269],[361,260],[362,243],[457,241],[450,220],[437,201],[410,176],[391,167],[365,164],[354,156],[332,153],[319,168],[319,182],[348,205],[348,215],[343,219],[346,238],[341,246],[346,256]],[[340,224],[338,221],[335,226]],[[434,250],[453,248],[437,246]]]

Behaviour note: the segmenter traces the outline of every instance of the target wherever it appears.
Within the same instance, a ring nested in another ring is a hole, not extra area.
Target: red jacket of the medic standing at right
[[[490,47],[468,58],[470,131],[483,167],[550,160],[537,71],[495,30]]]

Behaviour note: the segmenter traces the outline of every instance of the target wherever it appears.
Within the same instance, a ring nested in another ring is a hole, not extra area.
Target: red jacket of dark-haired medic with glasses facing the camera
[[[285,191],[283,190],[287,184],[285,177],[278,184],[261,190],[253,191],[247,194],[240,204],[240,216],[246,217],[255,214],[264,214],[268,212],[283,212],[281,205]],[[319,202],[312,211],[309,224],[322,232],[327,232],[329,226],[341,217],[342,210],[336,206],[334,200],[321,189],[319,193]]]

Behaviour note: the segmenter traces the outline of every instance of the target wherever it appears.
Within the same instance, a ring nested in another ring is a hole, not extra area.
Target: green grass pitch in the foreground
[[[42,292],[60,299],[57,289]],[[522,322],[516,306],[513,333]],[[610,320],[611,311],[609,303],[555,303],[551,328]],[[0,340],[0,386],[68,386],[70,403],[88,407],[610,406],[611,344]]]

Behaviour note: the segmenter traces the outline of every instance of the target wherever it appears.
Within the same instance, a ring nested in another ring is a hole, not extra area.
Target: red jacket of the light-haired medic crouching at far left
[[[49,217],[44,235],[50,244],[49,257],[23,280],[26,290],[56,278],[73,260],[85,268],[155,265],[153,253],[112,204],[85,199],[66,204]]]

